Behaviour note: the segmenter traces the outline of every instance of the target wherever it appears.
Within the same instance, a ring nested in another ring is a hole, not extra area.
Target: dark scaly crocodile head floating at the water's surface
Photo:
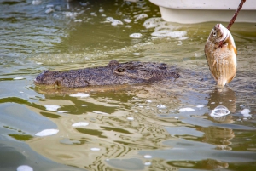
[[[177,69],[164,63],[112,60],[108,66],[73,71],[44,71],[36,77],[37,85],[82,88],[88,86],[153,83],[178,78]]]

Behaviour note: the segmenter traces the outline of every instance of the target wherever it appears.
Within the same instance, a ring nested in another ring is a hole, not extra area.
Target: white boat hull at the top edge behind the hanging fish
[[[149,0],[163,20],[177,23],[230,22],[241,0]],[[243,3],[236,22],[256,23],[256,0]]]

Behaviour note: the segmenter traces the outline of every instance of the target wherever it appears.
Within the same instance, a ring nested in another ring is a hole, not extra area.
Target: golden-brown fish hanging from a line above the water
[[[236,77],[236,44],[230,31],[222,24],[212,28],[205,45],[205,54],[218,87],[224,87]]]

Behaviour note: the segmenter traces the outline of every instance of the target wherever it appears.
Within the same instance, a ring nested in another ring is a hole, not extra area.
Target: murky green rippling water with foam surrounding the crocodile
[[[148,1],[35,2],[0,1],[1,171],[20,165],[42,171],[255,170],[255,23],[231,27],[237,74],[218,89],[203,49],[216,22],[166,23]],[[139,14],[147,16],[137,19]],[[113,26],[108,17],[123,25]],[[44,70],[110,60],[165,62],[180,68],[181,78],[110,89],[33,83]],[[72,95],[77,93],[90,96]],[[230,115],[211,117],[218,105]],[[241,114],[244,109],[250,117]],[[89,124],[72,126],[79,122]],[[59,132],[35,135],[44,129]]]

